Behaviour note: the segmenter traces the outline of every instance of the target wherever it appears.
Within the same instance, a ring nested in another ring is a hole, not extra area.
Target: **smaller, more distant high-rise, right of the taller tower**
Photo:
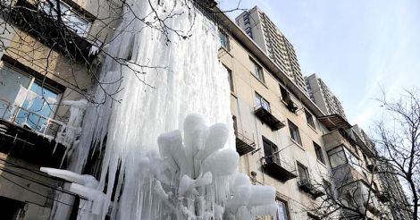
[[[316,74],[305,77],[309,97],[325,114],[340,114],[346,119],[346,114],[340,100],[332,93],[327,85]]]

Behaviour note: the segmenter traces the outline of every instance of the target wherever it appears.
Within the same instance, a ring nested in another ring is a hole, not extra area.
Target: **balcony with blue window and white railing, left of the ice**
[[[0,152],[41,166],[60,167],[72,142],[64,123],[0,98]]]

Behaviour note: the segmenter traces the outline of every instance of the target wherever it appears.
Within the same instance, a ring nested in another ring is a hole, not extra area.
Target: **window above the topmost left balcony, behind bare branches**
[[[56,1],[51,1],[52,5],[46,3],[46,1],[41,1],[40,8],[46,14],[51,15],[54,19],[58,19],[57,16],[57,3]],[[90,22],[80,13],[77,13],[76,10],[72,9],[70,5],[63,3],[60,1],[60,11],[62,13],[62,21],[67,28],[73,30],[77,35],[80,37],[87,37],[88,36],[88,29],[90,26]]]

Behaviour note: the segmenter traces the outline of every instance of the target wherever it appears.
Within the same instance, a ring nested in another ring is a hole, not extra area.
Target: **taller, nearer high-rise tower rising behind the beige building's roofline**
[[[307,94],[295,49],[273,21],[255,6],[239,14],[236,22],[242,30],[247,32],[249,38],[254,39],[256,45],[261,47],[265,54],[280,67],[281,71]]]

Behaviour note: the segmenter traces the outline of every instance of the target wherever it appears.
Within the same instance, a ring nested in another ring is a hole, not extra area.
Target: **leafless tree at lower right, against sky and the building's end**
[[[331,185],[314,182],[314,189],[324,195],[317,198],[311,211],[323,219],[368,219],[367,211],[384,219],[418,219],[419,92],[411,89],[396,100],[389,100],[385,94],[378,99],[384,114],[371,135],[374,156],[365,161],[365,166],[343,158],[348,161],[346,165],[333,168],[331,177],[323,177],[331,178]]]

